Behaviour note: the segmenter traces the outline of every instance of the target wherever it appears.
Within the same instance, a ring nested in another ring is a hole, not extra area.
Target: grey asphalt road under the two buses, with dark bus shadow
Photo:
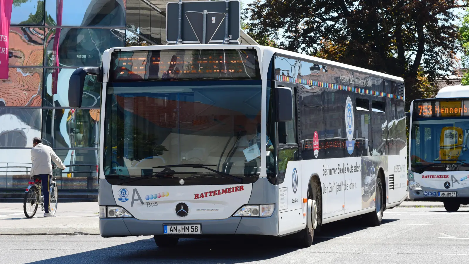
[[[157,248],[152,237],[98,235],[0,235],[0,263],[466,263],[469,210],[387,210],[383,224],[360,219],[323,225],[310,248],[277,238],[184,239],[176,248]]]

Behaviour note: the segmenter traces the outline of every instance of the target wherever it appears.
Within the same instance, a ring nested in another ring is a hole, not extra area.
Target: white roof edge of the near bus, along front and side
[[[114,47],[114,48],[110,48],[110,49],[106,50],[105,54],[103,54],[103,61],[105,60],[105,58],[107,59],[107,56],[108,56],[107,53],[108,52],[113,52],[113,50],[115,50],[115,49],[120,49],[120,51],[133,51],[133,50],[181,49],[181,48],[183,48],[183,49],[213,49],[213,48],[220,48],[221,49],[221,48],[227,48],[227,47],[228,48],[242,48],[242,49],[245,49],[247,47],[250,47],[250,48],[254,47],[254,48],[260,50],[259,59],[262,59],[263,55],[267,55],[267,56],[272,56],[273,54],[285,55],[285,56],[288,56],[288,57],[298,58],[298,59],[310,61],[310,62],[313,62],[313,63],[326,64],[326,65],[329,65],[329,66],[332,66],[332,67],[337,67],[337,68],[341,68],[341,69],[345,69],[345,70],[360,72],[360,73],[363,73],[363,74],[373,75],[373,76],[376,76],[376,77],[385,78],[385,79],[389,79],[389,80],[393,80],[393,81],[397,81],[397,82],[402,82],[402,83],[404,82],[404,79],[402,79],[401,77],[381,73],[381,72],[378,72],[378,71],[367,70],[367,69],[364,69],[364,68],[348,65],[348,64],[345,64],[345,63],[333,62],[333,61],[321,59],[321,58],[318,58],[318,57],[313,57],[313,56],[309,56],[309,55],[305,55],[305,54],[301,54],[301,53],[291,52],[291,51],[287,51],[287,50],[283,50],[283,49],[279,49],[279,48],[267,47],[267,46],[258,46],[258,45],[184,44],[184,45],[139,46],[139,47]],[[262,65],[261,65],[261,67],[262,67]],[[266,73],[266,70],[265,70],[265,73]]]

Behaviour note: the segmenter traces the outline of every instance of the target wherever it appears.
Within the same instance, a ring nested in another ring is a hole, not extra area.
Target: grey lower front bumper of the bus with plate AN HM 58
[[[229,217],[189,221],[99,218],[99,233],[102,237],[162,235],[163,225],[201,225],[201,235],[278,235],[276,214],[272,217]]]

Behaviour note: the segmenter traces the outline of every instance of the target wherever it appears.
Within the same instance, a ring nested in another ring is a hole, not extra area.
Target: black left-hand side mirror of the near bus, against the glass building
[[[76,69],[68,81],[68,105],[71,108],[82,107],[83,86],[87,75],[95,75],[98,82],[103,82],[103,69],[101,67],[80,67]]]

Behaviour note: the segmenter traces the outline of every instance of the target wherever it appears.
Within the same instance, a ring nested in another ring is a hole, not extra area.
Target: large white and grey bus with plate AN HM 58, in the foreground
[[[292,235],[407,196],[402,78],[272,47],[118,47],[77,69],[103,82],[103,237]],[[96,79],[95,79],[96,80]]]

